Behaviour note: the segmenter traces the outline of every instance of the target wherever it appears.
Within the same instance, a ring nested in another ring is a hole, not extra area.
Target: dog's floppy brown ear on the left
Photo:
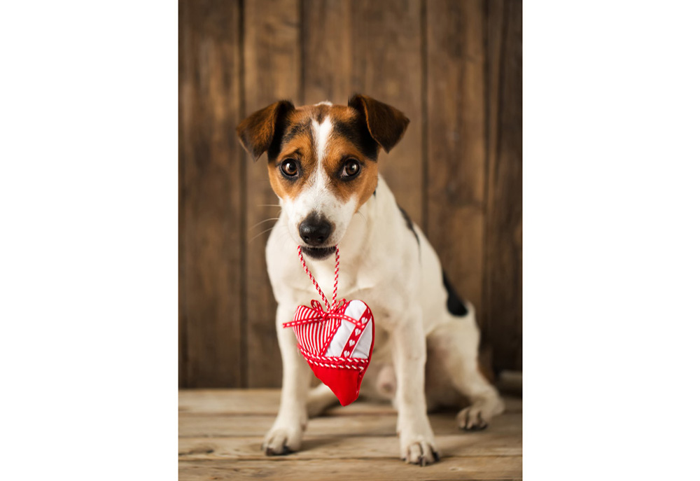
[[[284,117],[294,110],[294,104],[288,100],[280,100],[265,109],[251,113],[246,120],[239,123],[236,132],[246,151],[258,160],[272,145],[274,134],[279,130]]]

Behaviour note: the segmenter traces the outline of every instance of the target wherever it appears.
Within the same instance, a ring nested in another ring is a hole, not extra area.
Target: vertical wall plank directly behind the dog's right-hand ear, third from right
[[[351,90],[411,120],[398,145],[379,155],[379,172],[398,204],[423,226],[421,2],[358,0],[352,7]]]

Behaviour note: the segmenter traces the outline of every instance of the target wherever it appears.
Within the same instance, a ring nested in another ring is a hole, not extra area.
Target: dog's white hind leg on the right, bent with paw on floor
[[[454,389],[471,401],[456,418],[457,426],[465,430],[486,428],[504,408],[496,388],[479,371],[479,330],[474,312],[471,307],[468,316],[452,317],[428,337],[430,354],[437,357],[431,361],[442,365]]]

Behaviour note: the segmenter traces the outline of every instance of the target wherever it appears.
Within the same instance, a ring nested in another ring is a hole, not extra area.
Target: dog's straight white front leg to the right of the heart
[[[409,463],[425,466],[438,461],[440,457],[426,409],[426,338],[421,315],[419,305],[409,309],[407,317],[393,329],[391,347],[397,382],[396,431],[400,456]]]

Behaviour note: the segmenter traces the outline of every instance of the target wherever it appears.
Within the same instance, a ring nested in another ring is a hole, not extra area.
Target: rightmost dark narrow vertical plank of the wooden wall
[[[489,2],[484,335],[494,368],[522,369],[522,2]]]

